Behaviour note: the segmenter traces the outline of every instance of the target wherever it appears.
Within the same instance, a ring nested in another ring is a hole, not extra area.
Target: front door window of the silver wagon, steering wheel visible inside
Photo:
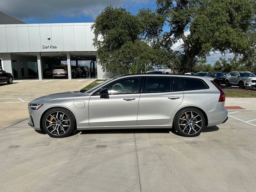
[[[138,93],[141,77],[130,77],[117,80],[103,88],[108,89],[108,94]]]

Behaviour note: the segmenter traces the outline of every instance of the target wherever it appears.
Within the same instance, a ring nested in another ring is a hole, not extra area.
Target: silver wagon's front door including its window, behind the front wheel
[[[107,84],[89,100],[89,126],[136,126],[142,77],[122,78]]]

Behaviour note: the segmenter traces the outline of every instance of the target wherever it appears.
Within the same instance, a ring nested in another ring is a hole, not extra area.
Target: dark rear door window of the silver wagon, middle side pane
[[[170,92],[172,77],[146,77],[145,93]]]

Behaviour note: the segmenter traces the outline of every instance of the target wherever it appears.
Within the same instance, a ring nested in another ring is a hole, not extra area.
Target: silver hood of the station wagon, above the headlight
[[[44,102],[46,100],[51,100],[51,99],[80,97],[80,96],[87,96],[87,95],[89,95],[89,94],[88,93],[82,93],[82,92],[79,92],[79,91],[69,91],[69,92],[55,93],[55,94],[42,96],[42,97],[39,97],[39,98],[36,98],[36,99],[32,100],[30,103],[40,103],[40,102]]]

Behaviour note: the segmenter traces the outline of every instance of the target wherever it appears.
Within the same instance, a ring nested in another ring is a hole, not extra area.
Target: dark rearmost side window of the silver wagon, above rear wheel
[[[180,80],[182,89],[184,91],[197,90],[197,89],[208,89],[208,86],[206,85],[206,83],[201,79],[179,77],[179,80]]]

